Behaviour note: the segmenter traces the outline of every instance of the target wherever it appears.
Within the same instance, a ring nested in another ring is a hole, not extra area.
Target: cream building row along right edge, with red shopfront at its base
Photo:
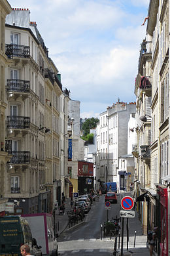
[[[146,50],[142,43],[135,84],[139,138],[137,209],[145,234],[158,226],[158,255],[169,255],[169,1],[150,1],[144,43]],[[147,97],[151,97],[152,114],[141,112]]]

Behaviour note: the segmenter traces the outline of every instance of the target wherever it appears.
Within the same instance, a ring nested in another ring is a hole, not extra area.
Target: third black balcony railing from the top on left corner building
[[[29,116],[7,116],[7,128],[29,129]]]

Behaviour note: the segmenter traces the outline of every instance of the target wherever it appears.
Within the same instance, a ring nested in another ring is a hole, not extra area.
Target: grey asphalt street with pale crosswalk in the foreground
[[[119,217],[121,195],[118,203],[111,204],[109,218]],[[107,210],[105,209],[105,198],[101,196],[99,202],[92,204],[92,209],[85,217],[84,223],[65,230],[59,237],[58,247],[61,255],[112,255],[115,238],[103,237],[101,240],[100,224],[107,221]],[[124,221],[124,249],[126,249],[126,220]],[[120,223],[122,228],[122,223]],[[120,230],[121,231],[121,230]],[[129,219],[129,248],[134,245],[134,234],[137,232],[135,247],[146,247],[146,236],[142,236],[141,222],[136,216]],[[118,247],[118,244],[117,244]],[[120,234],[121,248],[121,234]]]

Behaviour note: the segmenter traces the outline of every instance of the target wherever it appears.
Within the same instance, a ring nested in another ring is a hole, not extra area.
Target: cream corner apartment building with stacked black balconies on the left
[[[12,158],[7,163],[4,196],[15,204],[17,213],[50,213],[61,199],[62,85],[29,14],[28,9],[13,9],[6,18],[5,151]]]

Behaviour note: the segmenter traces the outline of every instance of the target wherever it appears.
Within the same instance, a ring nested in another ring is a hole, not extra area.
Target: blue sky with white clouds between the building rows
[[[82,118],[135,101],[149,0],[9,0],[28,8]]]

